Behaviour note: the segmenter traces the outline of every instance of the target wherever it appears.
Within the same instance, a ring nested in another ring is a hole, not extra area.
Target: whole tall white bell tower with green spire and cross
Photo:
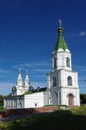
[[[48,73],[49,105],[80,105],[78,73],[72,71],[69,47],[59,20],[58,38],[52,52],[52,71]]]

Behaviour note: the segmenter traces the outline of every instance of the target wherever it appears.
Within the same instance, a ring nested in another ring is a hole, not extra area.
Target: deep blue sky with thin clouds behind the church
[[[58,19],[78,71],[80,92],[86,93],[86,1],[0,0],[0,94],[7,95],[28,69],[30,84],[47,86]]]

